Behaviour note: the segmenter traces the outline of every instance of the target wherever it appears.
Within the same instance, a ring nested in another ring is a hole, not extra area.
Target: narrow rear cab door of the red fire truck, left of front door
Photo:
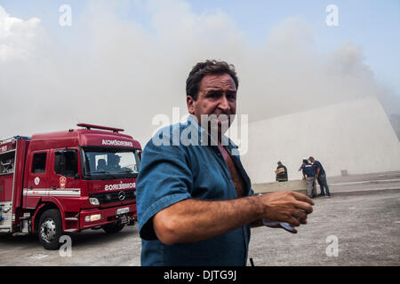
[[[49,150],[31,152],[28,163],[26,207],[36,208],[37,203],[49,192]]]

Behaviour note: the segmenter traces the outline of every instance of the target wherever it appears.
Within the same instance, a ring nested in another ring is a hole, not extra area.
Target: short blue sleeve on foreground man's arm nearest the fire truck
[[[191,197],[193,177],[188,156],[181,146],[144,148],[137,180],[137,209],[140,237],[156,240],[152,218],[157,212]]]

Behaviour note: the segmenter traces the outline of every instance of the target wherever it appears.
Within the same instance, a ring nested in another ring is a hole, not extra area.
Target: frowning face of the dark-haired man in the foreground
[[[232,122],[230,115],[236,114],[236,91],[236,84],[230,75],[205,75],[199,84],[197,100],[187,97],[188,112],[196,116],[200,125],[202,115],[215,114],[217,118],[211,126],[218,125],[218,134],[223,134],[222,130],[228,130]]]

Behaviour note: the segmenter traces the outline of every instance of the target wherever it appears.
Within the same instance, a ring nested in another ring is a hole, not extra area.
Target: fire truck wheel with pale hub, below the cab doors
[[[44,211],[39,220],[39,240],[45,249],[59,249],[62,234],[61,215],[58,209]]]

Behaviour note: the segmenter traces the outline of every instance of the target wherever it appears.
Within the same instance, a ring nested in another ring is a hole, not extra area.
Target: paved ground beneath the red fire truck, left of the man
[[[0,237],[0,265],[140,265],[141,242],[137,225],[107,234],[86,230],[72,234],[72,256],[45,250],[36,236]],[[4,257],[7,256],[7,257]]]

